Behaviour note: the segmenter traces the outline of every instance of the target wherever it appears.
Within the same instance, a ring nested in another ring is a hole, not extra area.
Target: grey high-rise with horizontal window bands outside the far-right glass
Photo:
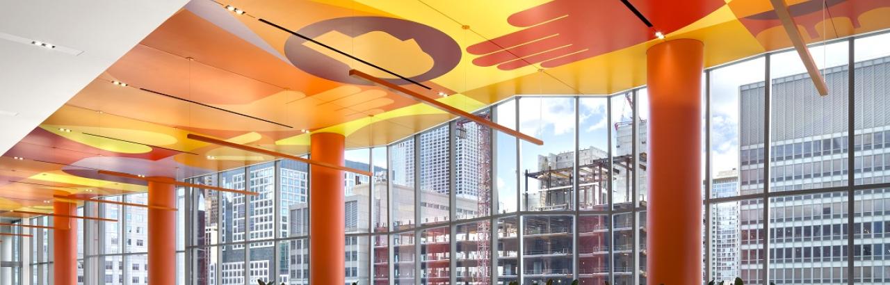
[[[854,74],[859,78],[888,76],[890,58],[856,62]],[[764,82],[740,86],[740,194],[761,192],[764,183],[770,191],[844,186],[850,169],[847,164],[849,143],[845,90],[848,69],[844,66],[824,69],[825,81],[834,94],[819,98],[810,77],[797,74],[772,80],[770,180],[764,175]],[[879,98],[886,86],[856,88],[857,111],[887,110],[890,103]],[[819,99],[819,100],[814,100]],[[863,102],[868,102],[863,106]],[[878,113],[880,113],[878,111]],[[856,151],[854,183],[881,183],[890,179],[883,171],[890,165],[885,142],[890,137],[890,120],[886,116],[854,121]],[[871,199],[890,195],[876,191]],[[847,266],[846,205],[851,198],[845,192],[829,192],[779,197],[770,200],[770,272],[771,280],[782,282],[812,278],[815,283],[845,283]],[[857,202],[858,203],[858,202]],[[759,281],[763,271],[764,239],[763,200],[740,201],[740,275],[746,281]],[[863,209],[857,209],[857,211]],[[872,215],[869,213],[869,215]],[[884,212],[870,217],[883,221]],[[883,232],[883,223],[854,224],[857,237]],[[868,229],[865,229],[868,228]],[[862,230],[860,230],[862,229]],[[858,245],[857,258],[871,258],[878,241],[864,240]],[[868,248],[868,251],[862,248]],[[862,257],[868,256],[868,257]],[[802,274],[801,272],[805,272]],[[807,276],[807,277],[801,277]],[[812,277],[811,277],[812,276]]]

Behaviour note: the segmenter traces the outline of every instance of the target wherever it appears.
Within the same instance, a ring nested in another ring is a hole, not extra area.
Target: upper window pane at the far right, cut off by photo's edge
[[[855,184],[890,183],[890,34],[855,39]]]

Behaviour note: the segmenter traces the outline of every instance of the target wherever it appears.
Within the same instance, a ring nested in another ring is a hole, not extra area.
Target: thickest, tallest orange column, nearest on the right
[[[703,49],[700,41],[677,39],[646,52],[648,284],[701,283]]]

